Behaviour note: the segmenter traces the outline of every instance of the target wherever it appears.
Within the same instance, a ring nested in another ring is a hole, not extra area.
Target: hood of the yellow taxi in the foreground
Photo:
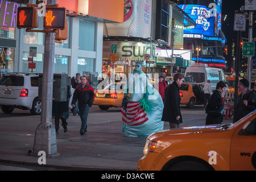
[[[170,129],[170,130],[163,130],[159,131],[157,133],[151,134],[148,139],[154,140],[154,138],[158,137],[166,137],[170,135],[187,135],[187,134],[196,134],[196,133],[216,133],[223,131],[228,126],[231,126],[232,124],[226,124],[226,125],[207,125],[207,126],[193,126],[193,127],[181,127],[179,129]]]

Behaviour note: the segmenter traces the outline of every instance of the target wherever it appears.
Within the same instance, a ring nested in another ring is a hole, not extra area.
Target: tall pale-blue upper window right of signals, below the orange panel
[[[94,51],[95,22],[79,20],[79,49]]]

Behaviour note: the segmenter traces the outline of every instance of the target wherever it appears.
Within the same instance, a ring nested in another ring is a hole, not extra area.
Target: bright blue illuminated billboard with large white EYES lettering
[[[216,36],[214,34],[214,15],[210,9],[202,5],[179,5],[195,22],[196,27],[184,30],[184,34],[200,34],[204,36]],[[184,24],[188,24],[184,19]]]

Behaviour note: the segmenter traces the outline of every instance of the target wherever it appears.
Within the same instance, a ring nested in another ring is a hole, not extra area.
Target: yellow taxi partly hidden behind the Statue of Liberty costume
[[[121,107],[124,85],[125,82],[114,82],[106,85],[104,89],[95,90],[93,105],[98,105],[101,110],[108,110],[109,107]]]

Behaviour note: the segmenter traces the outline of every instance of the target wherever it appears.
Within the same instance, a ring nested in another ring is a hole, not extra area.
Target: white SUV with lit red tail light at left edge
[[[4,113],[14,108],[30,109],[31,114],[41,114],[38,100],[38,73],[7,73],[0,79],[0,107]]]

